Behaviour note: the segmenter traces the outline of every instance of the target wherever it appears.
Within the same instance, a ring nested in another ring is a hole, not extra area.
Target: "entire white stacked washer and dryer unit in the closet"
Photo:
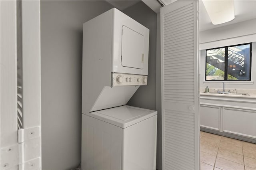
[[[156,169],[157,112],[126,105],[147,85],[149,30],[113,8],[83,25],[82,169]]]

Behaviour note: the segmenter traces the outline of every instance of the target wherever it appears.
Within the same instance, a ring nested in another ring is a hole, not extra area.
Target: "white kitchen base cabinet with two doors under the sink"
[[[255,142],[256,98],[200,95],[201,130]]]

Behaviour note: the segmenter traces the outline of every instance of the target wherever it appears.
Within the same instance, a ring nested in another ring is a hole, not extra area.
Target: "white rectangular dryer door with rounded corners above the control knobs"
[[[122,26],[121,57],[122,66],[143,69],[144,36],[126,26]]]

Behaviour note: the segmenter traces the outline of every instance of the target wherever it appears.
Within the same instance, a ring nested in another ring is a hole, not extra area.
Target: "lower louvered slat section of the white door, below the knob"
[[[165,109],[164,117],[166,162],[171,159],[179,169],[194,169],[194,114]],[[166,166],[166,169],[175,168]]]

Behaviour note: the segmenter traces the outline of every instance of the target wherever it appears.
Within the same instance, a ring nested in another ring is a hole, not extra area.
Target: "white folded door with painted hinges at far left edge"
[[[42,169],[40,1],[0,1],[0,12],[0,169]]]

